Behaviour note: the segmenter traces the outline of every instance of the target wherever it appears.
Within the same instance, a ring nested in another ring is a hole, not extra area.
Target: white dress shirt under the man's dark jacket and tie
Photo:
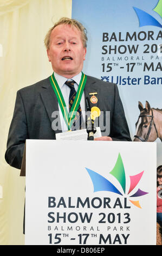
[[[61,89],[61,93],[63,95],[64,102],[66,103],[67,109],[69,111],[70,88],[65,84],[65,82],[69,79],[56,74],[56,72],[54,72],[54,75],[55,75],[56,81],[57,81],[57,83],[58,83],[58,85]],[[79,83],[80,83],[80,80],[81,80],[81,75],[82,75],[82,73],[80,72],[78,75],[70,78],[70,80],[75,81],[74,88],[75,88],[76,92],[77,92],[77,89],[79,87]],[[59,102],[58,102],[58,105],[59,105]],[[80,106],[81,106],[81,109],[82,109],[83,120],[85,120],[85,93],[84,92],[83,92],[82,97],[81,97]],[[68,127],[67,127],[67,125],[66,125],[66,123],[63,119],[63,115],[62,115],[62,112],[61,112],[60,105],[59,105],[59,113],[60,113],[62,132],[68,131]]]

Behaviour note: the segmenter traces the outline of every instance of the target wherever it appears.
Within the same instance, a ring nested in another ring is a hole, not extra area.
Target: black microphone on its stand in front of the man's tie
[[[86,97],[86,107],[87,107],[87,111],[92,111],[92,109],[90,108],[88,97]],[[88,133],[87,140],[94,141],[94,133],[96,132],[96,127],[94,126],[94,119],[93,119],[92,113],[88,116],[86,125],[87,125],[87,133]]]

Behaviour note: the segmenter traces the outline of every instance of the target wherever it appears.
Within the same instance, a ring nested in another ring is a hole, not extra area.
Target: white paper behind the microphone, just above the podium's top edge
[[[74,140],[74,141],[87,141],[88,133],[86,129],[76,130],[76,131],[67,131],[56,133],[57,140]],[[94,133],[94,138],[101,137],[100,127],[96,127],[96,132]]]

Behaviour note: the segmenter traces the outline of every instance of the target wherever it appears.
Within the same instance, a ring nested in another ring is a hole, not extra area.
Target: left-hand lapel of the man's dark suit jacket
[[[54,90],[50,85],[49,78],[47,80],[47,83],[45,83],[42,86],[41,98],[42,98],[44,107],[46,108],[46,111],[47,111],[47,114],[48,114],[51,124],[57,118],[59,130],[56,130],[55,133],[62,132],[58,101],[57,101],[57,97],[54,93]],[[54,112],[56,114],[54,114]],[[52,117],[52,114],[53,114],[53,117]]]

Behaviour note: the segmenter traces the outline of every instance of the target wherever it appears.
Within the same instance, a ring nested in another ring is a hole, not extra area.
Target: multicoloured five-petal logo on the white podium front
[[[131,192],[137,187],[143,173],[139,173],[137,175],[133,175],[133,176],[129,176],[130,178],[130,186],[129,186],[129,191],[128,193],[126,193],[126,174],[125,174],[125,169],[124,169],[124,164],[122,162],[121,159],[121,155],[119,153],[118,155],[118,159],[115,163],[114,168],[112,169],[112,171],[110,172],[110,174],[112,174],[114,176],[114,178],[116,180],[118,180],[119,184],[122,187],[122,191],[119,191],[118,188],[116,188],[112,182],[110,182],[108,179],[104,178],[102,175],[94,172],[93,170],[90,170],[88,168],[86,168],[92,182],[93,182],[93,187],[94,187],[94,192],[97,191],[109,191],[109,192],[113,192],[116,194],[120,194],[121,196],[128,196],[129,198],[133,198],[133,197],[141,197],[144,196],[145,194],[148,194],[145,191],[140,190],[140,188],[137,189],[137,191],[135,193],[133,193],[131,196],[129,196],[129,194],[131,194]],[[129,201],[137,206],[138,208],[141,208],[139,200],[134,201],[134,200],[130,200]]]

